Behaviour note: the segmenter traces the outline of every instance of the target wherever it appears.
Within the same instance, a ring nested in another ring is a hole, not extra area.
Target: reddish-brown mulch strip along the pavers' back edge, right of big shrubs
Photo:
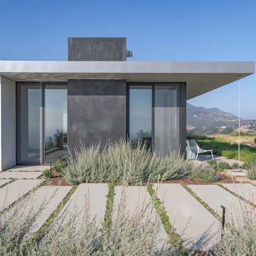
[[[184,183],[186,185],[208,185],[208,184],[218,184],[218,183],[241,183],[241,178],[245,178],[243,176],[234,176],[233,178],[229,175],[223,174],[218,181],[214,182],[201,182],[198,179],[191,178],[181,178],[173,181],[161,181],[161,183]],[[244,183],[247,181],[244,181]]]

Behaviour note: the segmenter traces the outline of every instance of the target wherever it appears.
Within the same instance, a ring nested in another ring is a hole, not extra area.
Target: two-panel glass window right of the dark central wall
[[[179,150],[178,89],[177,83],[129,85],[129,139],[133,144],[140,140],[163,155]]]

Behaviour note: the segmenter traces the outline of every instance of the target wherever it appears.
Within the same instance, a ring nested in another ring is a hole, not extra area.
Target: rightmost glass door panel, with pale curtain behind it
[[[175,85],[154,85],[154,149],[164,155],[179,150]]]

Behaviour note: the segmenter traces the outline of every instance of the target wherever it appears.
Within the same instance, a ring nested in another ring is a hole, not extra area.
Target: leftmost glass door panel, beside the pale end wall
[[[43,91],[40,83],[17,85],[17,164],[40,164],[43,136]]]

